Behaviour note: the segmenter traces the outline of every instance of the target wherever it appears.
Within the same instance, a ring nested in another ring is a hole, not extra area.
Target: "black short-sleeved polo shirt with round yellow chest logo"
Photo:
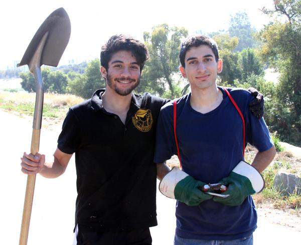
[[[132,94],[125,124],[102,106],[97,90],[71,107],[58,148],[75,152],[75,223],[83,230],[130,230],[157,225],[156,124],[168,100]]]

